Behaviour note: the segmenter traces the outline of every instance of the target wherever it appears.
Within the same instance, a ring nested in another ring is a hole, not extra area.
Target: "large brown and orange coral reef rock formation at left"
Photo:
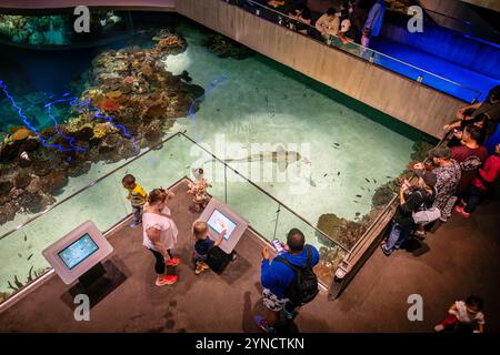
[[[167,71],[162,61],[184,51],[187,42],[166,30],[153,41],[151,49],[99,54],[86,75],[86,90],[76,101],[89,104],[53,108],[54,114],[64,112],[68,118],[57,128],[37,121],[36,126],[46,126],[37,134],[26,126],[9,126],[10,134],[0,143],[0,224],[18,212],[46,209],[68,176],[86,174],[92,163],[118,162],[137,155],[140,148],[160,143],[174,120],[188,115],[204,90],[191,83],[188,72],[173,75]],[[33,101],[27,104],[29,119],[42,116],[39,109],[31,108],[46,99],[39,94],[29,98]],[[0,113],[2,110],[12,108],[0,106]]]

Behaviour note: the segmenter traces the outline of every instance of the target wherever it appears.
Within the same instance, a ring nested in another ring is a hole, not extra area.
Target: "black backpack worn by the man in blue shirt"
[[[287,297],[290,300],[294,306],[301,306],[306,303],[314,300],[319,292],[318,288],[318,277],[311,267],[312,250],[311,246],[307,247],[308,261],[304,266],[299,267],[291,264],[288,260],[283,257],[276,257],[279,261],[293,270],[296,277],[291,282],[287,290]]]

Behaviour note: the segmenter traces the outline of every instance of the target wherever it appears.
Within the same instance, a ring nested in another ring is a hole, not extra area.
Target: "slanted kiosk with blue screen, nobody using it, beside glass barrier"
[[[113,247],[96,224],[87,221],[47,247],[42,254],[69,285],[98,265],[112,251]]]

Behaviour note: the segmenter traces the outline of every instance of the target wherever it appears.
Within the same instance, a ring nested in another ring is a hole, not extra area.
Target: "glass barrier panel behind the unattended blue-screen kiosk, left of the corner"
[[[121,184],[133,174],[148,192],[190,173],[191,142],[177,135],[0,240],[0,302],[50,270],[41,252],[87,220],[108,231],[132,211]]]

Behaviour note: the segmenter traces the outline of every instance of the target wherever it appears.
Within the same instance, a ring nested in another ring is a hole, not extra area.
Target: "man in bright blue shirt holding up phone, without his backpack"
[[[274,244],[274,243],[273,243]],[[313,267],[319,262],[319,252],[312,245],[306,245],[306,237],[298,229],[292,229],[287,235],[284,252],[280,253],[280,258],[288,263],[304,267],[310,262]],[[296,305],[291,304],[287,297],[288,290],[296,278],[296,272],[289,265],[278,260],[271,261],[269,247],[262,250],[261,283],[263,286],[262,296],[266,306],[266,317],[257,315],[254,322],[258,327],[267,333],[276,333],[276,324],[280,312],[289,320],[293,317]]]

